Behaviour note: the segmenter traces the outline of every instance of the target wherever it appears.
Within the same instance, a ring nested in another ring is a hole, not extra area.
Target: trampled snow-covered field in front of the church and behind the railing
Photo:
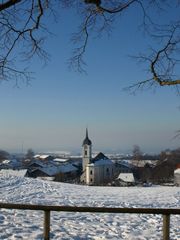
[[[180,187],[88,187],[20,177],[0,178],[0,201],[43,205],[179,208]],[[42,239],[43,212],[0,211],[0,240]],[[171,239],[180,240],[180,216],[171,216]],[[51,239],[162,239],[162,216],[51,214]]]

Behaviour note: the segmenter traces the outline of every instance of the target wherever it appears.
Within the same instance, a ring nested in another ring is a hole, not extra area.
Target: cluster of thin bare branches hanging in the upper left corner
[[[0,79],[30,79],[29,71],[18,70],[14,53],[29,60],[34,55],[44,57],[41,22],[48,1],[2,1],[0,4]],[[24,49],[24,51],[23,51]]]

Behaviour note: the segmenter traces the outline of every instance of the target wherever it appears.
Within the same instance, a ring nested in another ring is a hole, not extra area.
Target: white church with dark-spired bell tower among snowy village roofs
[[[92,142],[88,137],[87,129],[82,147],[81,182],[87,185],[106,185],[112,182],[115,172],[114,163],[101,152],[92,158]]]

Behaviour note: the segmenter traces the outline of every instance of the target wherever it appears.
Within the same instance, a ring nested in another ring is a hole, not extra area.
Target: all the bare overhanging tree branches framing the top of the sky
[[[72,39],[76,47],[69,61],[71,67],[84,71],[84,55],[90,36],[109,31],[114,20],[124,13],[129,17],[128,9],[133,7],[142,15],[142,31],[151,41],[157,41],[157,48],[137,56],[146,63],[149,78],[132,87],[180,84],[180,15],[170,14],[173,7],[180,9],[179,0],[3,0],[0,3],[1,80],[29,80],[30,72],[26,67],[19,69],[17,61],[26,60],[28,66],[34,55],[43,59],[48,57],[43,49],[48,33],[45,19],[55,13],[60,14],[64,7],[67,10],[75,8],[81,19],[79,30]],[[166,21],[157,24],[153,17],[158,14],[160,18],[163,11],[167,12]]]

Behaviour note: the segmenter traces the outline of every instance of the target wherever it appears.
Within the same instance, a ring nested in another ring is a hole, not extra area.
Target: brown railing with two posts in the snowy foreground
[[[170,239],[170,215],[180,214],[179,209],[166,208],[110,208],[110,207],[73,207],[44,206],[30,204],[0,203],[0,208],[44,211],[44,240],[50,239],[50,213],[55,212],[93,212],[93,213],[129,213],[163,215],[163,240]]]

